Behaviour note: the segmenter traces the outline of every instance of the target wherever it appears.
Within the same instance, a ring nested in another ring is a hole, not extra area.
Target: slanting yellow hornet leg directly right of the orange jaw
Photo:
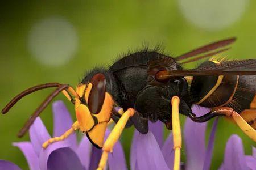
[[[121,118],[109,134],[109,137],[106,139],[104,146],[102,148],[103,153],[101,156],[100,163],[98,164],[97,170],[102,170],[104,169],[107,159],[108,159],[108,154],[109,152],[113,151],[113,147],[115,143],[118,141],[120,135],[122,134],[123,129],[125,128],[125,125],[127,121],[129,120],[130,117],[134,115],[134,109],[129,108],[125,113],[122,114]]]

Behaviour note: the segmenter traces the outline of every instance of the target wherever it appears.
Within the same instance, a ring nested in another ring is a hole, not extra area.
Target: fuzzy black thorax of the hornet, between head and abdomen
[[[172,96],[181,99],[181,113],[191,112],[188,83],[184,77],[176,77],[167,82],[158,82],[154,75],[159,70],[177,70],[181,66],[174,58],[158,52],[137,52],[119,59],[108,70],[94,69],[82,80],[89,82],[96,73],[106,77],[108,91],[124,110],[134,108],[137,113],[126,126],[134,124],[141,133],[147,133],[148,121],[160,120],[166,124],[171,120],[170,100]],[[120,115],[114,111],[112,118],[118,121]]]

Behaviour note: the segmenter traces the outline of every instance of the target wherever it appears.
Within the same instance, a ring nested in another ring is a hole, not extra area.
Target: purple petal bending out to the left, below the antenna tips
[[[23,152],[23,155],[27,159],[28,167],[30,167],[31,170],[39,169],[38,155],[36,155],[31,142],[16,142],[13,143],[13,146],[18,147]]]

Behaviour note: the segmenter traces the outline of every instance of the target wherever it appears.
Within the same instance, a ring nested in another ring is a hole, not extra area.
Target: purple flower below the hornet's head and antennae
[[[71,116],[62,101],[53,103],[53,136],[59,136],[72,126]],[[106,137],[109,135],[106,131]],[[89,140],[83,137],[77,144],[76,134],[61,142],[53,143],[46,149],[42,148],[43,142],[49,139],[46,127],[40,118],[36,118],[29,130],[31,142],[16,142],[27,159],[32,170],[44,169],[96,169],[101,157],[101,150],[92,147]],[[109,169],[127,169],[125,155],[121,143],[117,142],[113,153],[108,158]]]

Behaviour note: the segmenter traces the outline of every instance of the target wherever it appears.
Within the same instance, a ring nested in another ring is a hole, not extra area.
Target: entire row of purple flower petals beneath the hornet
[[[209,111],[202,107],[193,107],[193,112],[201,116]],[[71,116],[62,101],[53,103],[54,130],[53,135],[59,136],[72,125]],[[181,164],[183,169],[210,169],[214,135],[217,127],[216,119],[210,133],[208,145],[205,145],[205,129],[207,123],[195,123],[187,118],[184,125],[184,142],[186,162]],[[130,169],[172,169],[174,150],[172,133],[166,141],[163,140],[163,123],[150,123],[148,134],[140,134],[135,130],[130,152]],[[105,138],[110,131],[106,131]],[[37,118],[30,128],[31,142],[18,142],[14,146],[20,148],[27,159],[30,169],[96,169],[101,157],[101,150],[92,147],[86,137],[77,144],[76,134],[62,142],[49,145],[46,150],[42,143],[50,138],[48,131],[40,118]],[[0,160],[0,169],[20,169],[13,163]],[[109,154],[108,168],[127,169],[125,155],[121,143],[117,142],[113,153]],[[243,152],[242,141],[237,135],[232,135],[226,143],[223,169],[256,169],[256,149],[253,155]]]

